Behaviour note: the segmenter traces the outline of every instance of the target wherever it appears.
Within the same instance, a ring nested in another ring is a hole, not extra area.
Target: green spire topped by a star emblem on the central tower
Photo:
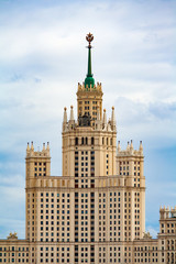
[[[85,87],[90,88],[95,86],[95,79],[92,78],[91,73],[91,42],[94,40],[94,35],[91,33],[87,34],[86,40],[88,41],[88,70],[87,70],[87,77],[85,79]]]

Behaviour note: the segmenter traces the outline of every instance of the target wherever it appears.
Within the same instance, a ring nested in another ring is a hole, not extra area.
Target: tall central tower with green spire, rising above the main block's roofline
[[[114,108],[111,119],[107,122],[106,110],[102,117],[101,84],[95,85],[91,73],[94,36],[89,33],[86,38],[89,42],[88,74],[82,86],[78,84],[77,119],[74,118],[73,106],[69,120],[67,121],[66,108],[63,119],[63,176],[75,177],[75,187],[84,185],[90,187],[91,184],[95,186],[95,177],[116,174]]]

